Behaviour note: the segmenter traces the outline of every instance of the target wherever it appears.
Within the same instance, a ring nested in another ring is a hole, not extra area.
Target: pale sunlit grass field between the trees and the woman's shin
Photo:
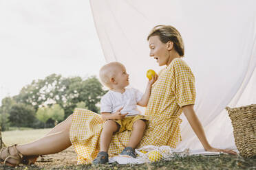
[[[50,132],[49,129],[39,129],[39,130],[12,130],[2,132],[3,143],[8,145],[13,144],[23,144],[32,142],[38,138],[43,137],[47,132]]]

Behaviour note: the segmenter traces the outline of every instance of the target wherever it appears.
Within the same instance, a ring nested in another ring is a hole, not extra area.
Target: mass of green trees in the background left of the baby
[[[34,80],[24,86],[19,95],[2,100],[1,126],[3,128],[6,125],[7,119],[10,120],[11,125],[19,126],[31,125],[28,120],[32,121],[32,119],[43,123],[63,121],[76,107],[98,112],[100,97],[105,93],[95,76],[83,80],[81,77],[62,77],[52,74],[43,80]],[[28,113],[25,113],[26,111]],[[27,123],[23,118],[19,120],[20,117],[27,117]]]

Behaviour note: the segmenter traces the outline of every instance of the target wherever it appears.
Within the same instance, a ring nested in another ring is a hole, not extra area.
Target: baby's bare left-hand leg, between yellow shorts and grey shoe
[[[103,125],[103,131],[100,134],[100,151],[108,151],[109,144],[114,132],[118,132],[119,125],[115,121],[108,120]]]

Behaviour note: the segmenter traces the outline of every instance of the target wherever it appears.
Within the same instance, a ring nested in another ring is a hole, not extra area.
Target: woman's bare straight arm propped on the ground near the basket
[[[217,151],[217,152],[223,151],[228,154],[235,154],[235,155],[237,154],[235,151],[232,151],[232,150],[217,149],[217,148],[211,147],[211,145],[209,144],[209,142],[206,139],[202,124],[199,121],[197,115],[195,114],[193,105],[183,106],[182,110],[186,116],[186,119],[189,121],[189,124],[191,125],[193,131],[195,132],[196,136],[198,136],[200,142],[202,143],[202,145],[206,151]]]

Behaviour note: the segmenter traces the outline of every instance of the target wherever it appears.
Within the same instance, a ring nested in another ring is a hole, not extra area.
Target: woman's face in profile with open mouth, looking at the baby
[[[160,41],[159,36],[151,36],[149,38],[149,49],[149,56],[155,58],[159,66],[169,63],[170,55],[168,46]]]

